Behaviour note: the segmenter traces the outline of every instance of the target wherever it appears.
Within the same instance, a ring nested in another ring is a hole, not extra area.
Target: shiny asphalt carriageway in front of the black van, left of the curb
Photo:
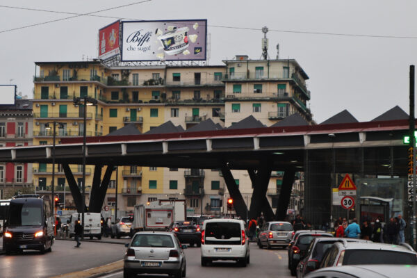
[[[116,240],[114,240],[116,241]],[[129,242],[129,240],[117,240]],[[51,277],[64,273],[95,268],[119,261],[126,247],[122,244],[83,241],[79,248],[74,240],[56,240],[52,252],[40,254],[25,251],[24,254],[0,256],[0,277]]]

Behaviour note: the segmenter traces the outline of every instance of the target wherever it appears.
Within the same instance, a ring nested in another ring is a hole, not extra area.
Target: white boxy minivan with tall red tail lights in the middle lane
[[[216,260],[231,260],[245,267],[250,263],[245,222],[227,218],[205,220],[202,228],[201,254],[202,266]]]

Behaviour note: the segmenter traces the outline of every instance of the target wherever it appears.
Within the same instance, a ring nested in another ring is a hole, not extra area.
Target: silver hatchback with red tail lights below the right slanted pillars
[[[293,235],[293,225],[290,222],[272,221],[266,222],[259,231],[259,248],[264,246],[268,249],[272,247],[287,247],[287,239]]]

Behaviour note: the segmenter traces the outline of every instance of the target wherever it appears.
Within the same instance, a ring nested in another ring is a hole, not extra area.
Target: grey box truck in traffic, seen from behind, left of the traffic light
[[[165,231],[174,221],[186,220],[186,200],[156,200],[136,205],[133,211],[131,234],[136,231]]]

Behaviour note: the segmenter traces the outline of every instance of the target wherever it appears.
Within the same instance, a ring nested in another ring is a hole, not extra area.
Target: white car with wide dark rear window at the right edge
[[[361,264],[417,264],[417,253],[407,246],[386,243],[334,243],[323,256],[320,268]]]

